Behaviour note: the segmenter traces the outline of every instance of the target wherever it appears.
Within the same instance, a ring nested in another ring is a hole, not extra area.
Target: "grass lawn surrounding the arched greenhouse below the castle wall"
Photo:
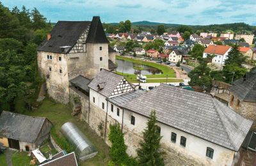
[[[67,148],[72,150],[73,146],[69,144],[61,135],[60,128],[62,124],[68,121],[76,124],[81,132],[86,135],[86,137],[98,150],[98,154],[94,158],[86,160],[80,165],[108,165],[108,161],[110,160],[108,155],[109,147],[104,143],[104,140],[100,139],[85,122],[78,121],[77,117],[72,116],[71,113],[72,108],[70,105],[55,103],[47,98],[45,98],[44,102],[42,102],[42,105],[40,105],[37,110],[24,112],[24,114],[29,116],[47,117],[54,124],[54,128],[52,128],[51,131],[52,137],[61,146],[61,148],[65,150],[67,150]]]

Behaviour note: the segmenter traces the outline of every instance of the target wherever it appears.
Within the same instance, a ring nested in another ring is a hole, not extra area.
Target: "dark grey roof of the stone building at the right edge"
[[[230,91],[240,100],[245,102],[256,102],[256,69],[246,73],[246,77],[236,80]]]

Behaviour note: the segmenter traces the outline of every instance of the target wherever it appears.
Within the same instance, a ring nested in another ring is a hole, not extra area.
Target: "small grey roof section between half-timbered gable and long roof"
[[[146,92],[137,89],[130,93],[125,93],[125,94],[122,94],[122,95],[119,95],[119,96],[116,96],[113,98],[109,98],[109,102],[111,102],[117,106],[120,106],[120,105],[123,105],[124,103],[131,101],[134,98],[137,98],[138,96],[140,96],[141,94],[144,94],[144,93],[146,93]]]

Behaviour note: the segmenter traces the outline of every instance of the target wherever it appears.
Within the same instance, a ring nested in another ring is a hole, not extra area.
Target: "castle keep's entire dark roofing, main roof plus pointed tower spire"
[[[79,37],[90,27],[86,42],[108,43],[106,34],[100,22],[100,17],[93,17],[91,21],[58,21],[51,31],[51,38],[45,39],[38,50],[45,52],[64,53],[72,49]],[[60,47],[69,46],[70,49],[61,50]]]

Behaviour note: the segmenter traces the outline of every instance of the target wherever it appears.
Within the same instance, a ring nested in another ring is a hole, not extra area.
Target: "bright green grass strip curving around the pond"
[[[149,61],[141,61],[140,59],[132,59],[130,57],[124,57],[124,56],[116,56],[116,59],[130,61],[132,63],[137,63],[137,64],[143,64],[145,66],[152,66],[152,67],[157,68],[163,72],[163,74],[146,75],[148,79],[150,79],[150,78],[165,78],[166,75],[168,75],[168,77],[172,77],[172,78],[176,77],[174,70],[172,68],[170,68],[169,66],[166,66],[163,64],[153,63],[153,62],[149,62]],[[119,75],[122,75],[121,72],[116,72],[116,73]],[[124,76],[127,77],[127,79],[136,79],[136,75],[134,75],[134,74],[124,73]]]

